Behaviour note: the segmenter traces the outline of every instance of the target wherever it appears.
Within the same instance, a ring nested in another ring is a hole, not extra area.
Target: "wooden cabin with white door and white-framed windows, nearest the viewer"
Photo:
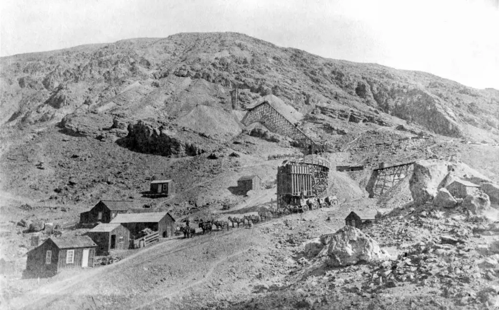
[[[93,267],[97,245],[88,236],[48,238],[27,253],[28,277],[50,277],[63,269]]]

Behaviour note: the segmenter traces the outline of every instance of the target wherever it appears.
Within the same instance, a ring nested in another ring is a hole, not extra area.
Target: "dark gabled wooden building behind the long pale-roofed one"
[[[109,223],[118,214],[129,213],[133,201],[101,200],[92,209],[80,213],[80,224]]]

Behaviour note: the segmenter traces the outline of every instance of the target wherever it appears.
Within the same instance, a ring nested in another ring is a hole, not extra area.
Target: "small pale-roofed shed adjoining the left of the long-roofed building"
[[[127,250],[130,231],[120,223],[101,223],[87,232],[97,244],[95,255],[108,255],[110,250]]]

